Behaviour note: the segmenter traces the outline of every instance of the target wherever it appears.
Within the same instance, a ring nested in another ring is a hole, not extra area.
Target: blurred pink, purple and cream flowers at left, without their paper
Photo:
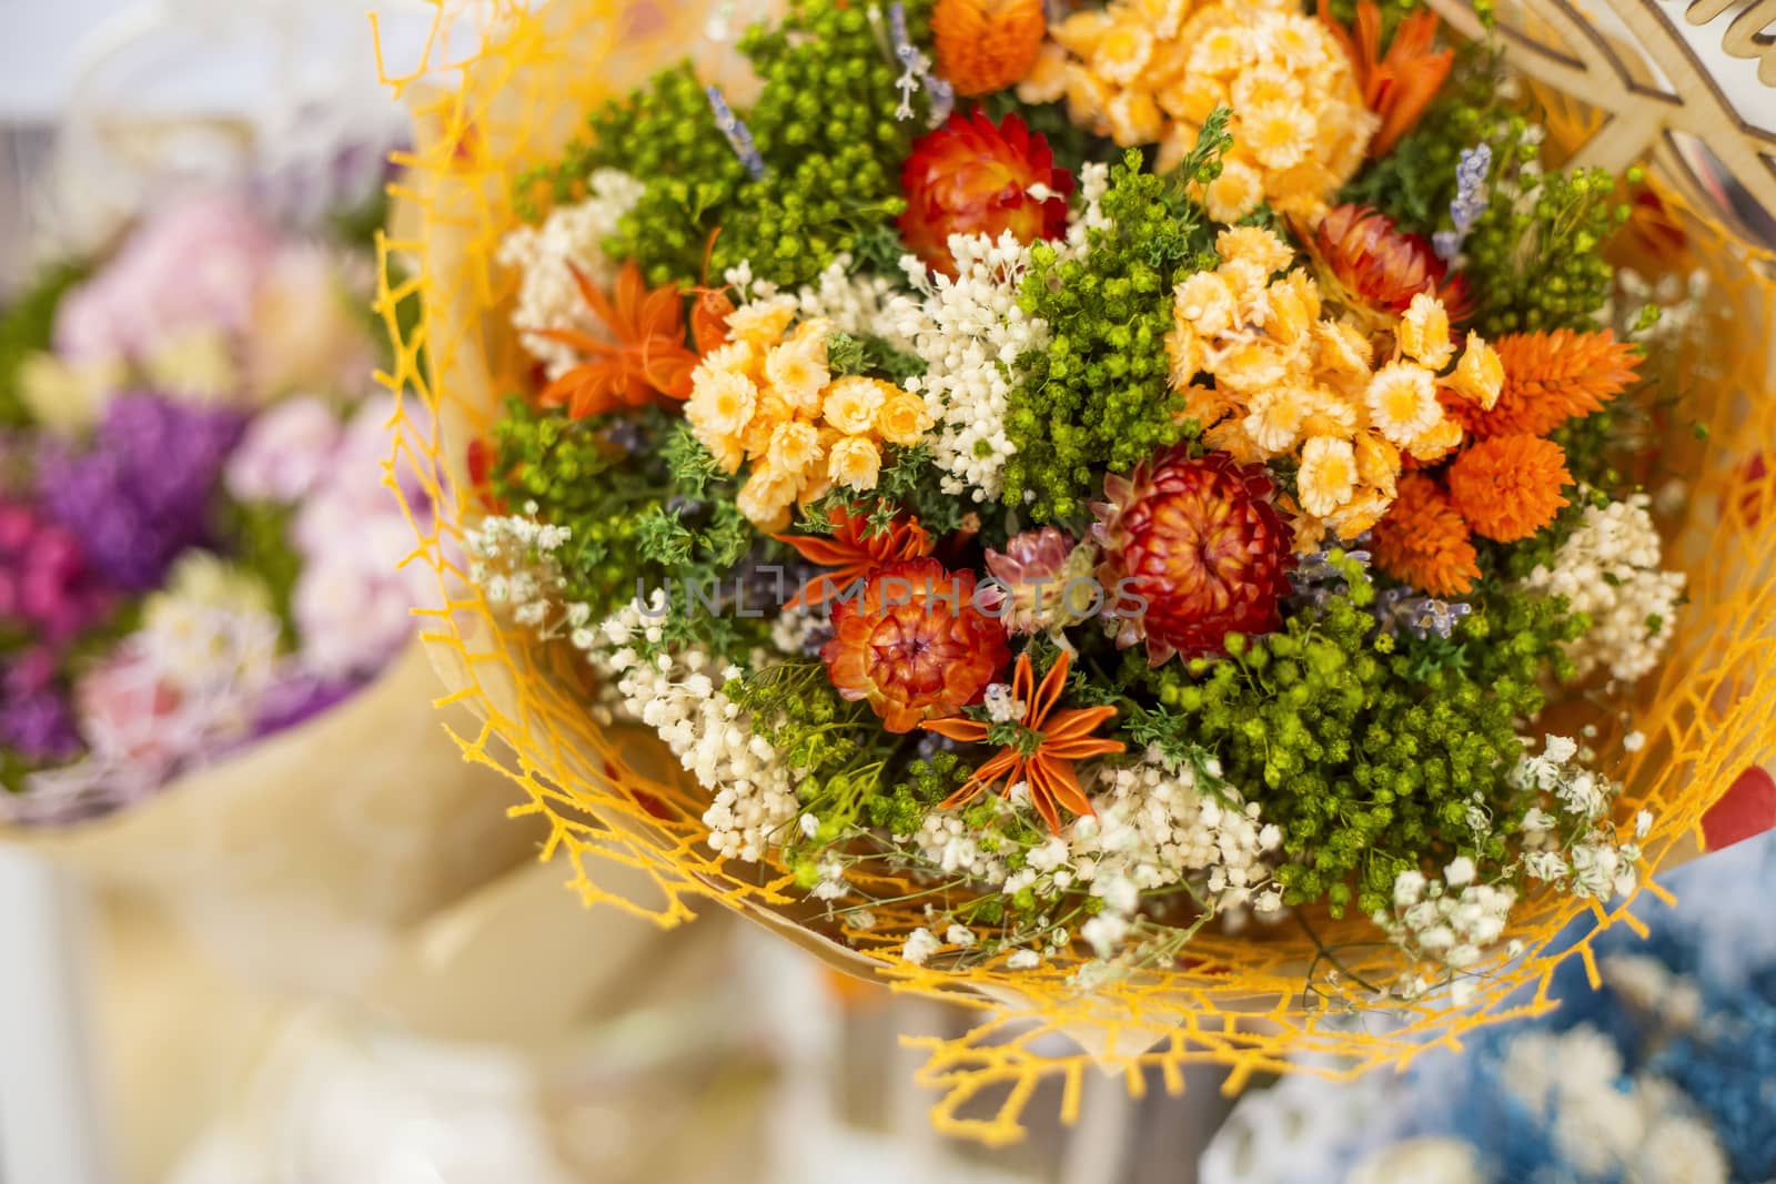
[[[348,699],[407,641],[423,589],[384,485],[371,266],[218,190],[11,312],[0,811],[140,801]]]

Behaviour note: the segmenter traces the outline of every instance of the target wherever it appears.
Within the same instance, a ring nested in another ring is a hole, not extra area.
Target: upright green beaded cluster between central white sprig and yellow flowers
[[[1213,225],[1183,183],[1218,174],[1224,128],[1225,112],[1209,115],[1197,153],[1170,179],[1146,172],[1138,153],[1115,165],[1103,199],[1110,225],[1092,231],[1083,261],[1032,250],[1018,304],[1048,321],[1050,339],[1019,359],[1005,504],[1035,522],[1082,515],[1094,472],[1126,472],[1185,431],[1165,355],[1170,289],[1217,259]]]

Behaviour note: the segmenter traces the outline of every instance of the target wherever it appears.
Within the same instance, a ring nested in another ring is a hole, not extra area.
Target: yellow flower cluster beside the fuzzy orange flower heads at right
[[[1293,252],[1261,227],[1231,227],[1222,264],[1183,280],[1167,353],[1185,415],[1204,442],[1241,463],[1300,462],[1296,545],[1330,531],[1352,540],[1394,502],[1405,456],[1433,462],[1462,442],[1439,391],[1490,408],[1504,385],[1499,355],[1469,334],[1456,360],[1442,302],[1417,295],[1392,334],[1371,339],[1321,316],[1320,288]],[[1199,383],[1209,375],[1213,387]]]

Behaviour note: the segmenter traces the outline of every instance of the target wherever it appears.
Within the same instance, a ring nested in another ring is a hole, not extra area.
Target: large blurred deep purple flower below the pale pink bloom
[[[206,538],[243,424],[231,408],[119,396],[85,453],[44,449],[37,495],[92,568],[124,591],[149,591],[181,550]]]

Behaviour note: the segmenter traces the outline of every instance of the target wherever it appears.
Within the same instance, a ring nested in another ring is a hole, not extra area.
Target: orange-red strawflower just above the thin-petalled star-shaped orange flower
[[[973,602],[973,572],[936,559],[876,568],[833,607],[828,678],[842,698],[868,699],[888,731],[959,714],[1011,660],[1005,627]]]

